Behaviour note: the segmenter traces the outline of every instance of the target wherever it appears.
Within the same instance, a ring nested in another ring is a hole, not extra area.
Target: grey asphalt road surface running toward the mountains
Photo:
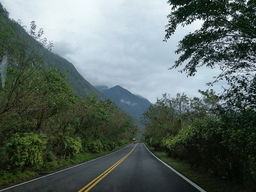
[[[204,191],[159,161],[143,143],[0,191]]]

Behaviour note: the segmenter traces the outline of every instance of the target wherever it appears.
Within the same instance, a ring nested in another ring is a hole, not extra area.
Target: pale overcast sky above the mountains
[[[213,70],[199,69],[186,77],[168,70],[179,55],[178,42],[193,26],[178,28],[167,42],[166,0],[0,0],[10,18],[28,28],[35,21],[53,41],[53,52],[72,62],[92,85],[120,85],[151,103],[167,92],[171,97],[185,92],[199,97],[206,90]],[[218,92],[220,86],[212,88]]]

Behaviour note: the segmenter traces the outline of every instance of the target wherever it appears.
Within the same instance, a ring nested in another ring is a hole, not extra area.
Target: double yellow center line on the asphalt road
[[[113,171],[117,167],[117,165],[119,165],[122,161],[124,161],[124,159],[126,159],[132,153],[132,151],[135,149],[137,144],[132,148],[132,150],[127,155],[125,155],[122,159],[120,159],[114,165],[109,167],[109,169],[107,169],[105,172],[101,173],[97,178],[93,179],[90,183],[88,183],[88,185],[86,185],[84,188],[80,189],[78,192],[82,192],[82,191],[86,192],[86,191],[91,190],[95,185],[97,185],[98,182],[101,181],[101,179],[105,178],[108,173]]]

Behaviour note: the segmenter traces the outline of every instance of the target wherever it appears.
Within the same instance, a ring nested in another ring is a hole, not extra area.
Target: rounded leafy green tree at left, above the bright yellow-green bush
[[[14,67],[9,67],[6,85],[0,93],[0,132],[5,135],[0,141],[10,139],[15,132],[45,132],[47,126],[43,124],[47,119],[61,110],[67,110],[76,100],[74,91],[67,83],[66,75],[56,69],[28,69],[22,76],[30,74],[30,78],[26,81],[23,79],[22,83],[13,89],[13,82],[16,80],[12,79],[15,79],[17,72]]]

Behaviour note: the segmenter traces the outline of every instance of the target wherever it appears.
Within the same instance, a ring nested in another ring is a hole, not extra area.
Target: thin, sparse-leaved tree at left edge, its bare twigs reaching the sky
[[[12,31],[12,34],[14,33],[15,35],[9,37],[11,43],[0,41],[0,47],[7,50],[6,53],[2,51],[5,54],[0,55],[0,60],[2,60],[2,57],[8,58],[7,72],[10,67],[10,73],[12,73],[12,75],[8,77],[10,87],[5,90],[3,87],[0,87],[0,94],[5,92],[3,94],[5,94],[4,97],[6,97],[4,103],[0,103],[0,115],[17,107],[17,103],[29,93],[29,90],[31,91],[37,86],[40,82],[39,79],[38,81],[35,81],[33,85],[31,85],[30,79],[37,75],[37,69],[43,68],[45,63],[44,55],[47,51],[50,51],[52,47],[51,42],[47,44],[47,39],[42,38],[42,35],[44,34],[43,29],[39,29],[36,33],[36,25],[34,21],[31,22],[28,34],[23,27],[20,26],[21,23],[16,23],[14,21],[13,23],[17,30]],[[13,45],[11,52],[9,44]],[[43,46],[48,46],[48,49],[42,49]],[[29,84],[29,89],[22,89],[22,87],[27,84]]]

